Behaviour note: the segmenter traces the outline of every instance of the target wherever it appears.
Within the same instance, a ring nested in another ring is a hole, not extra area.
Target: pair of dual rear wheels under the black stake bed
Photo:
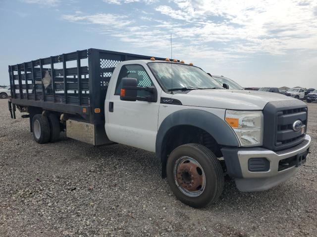
[[[32,132],[34,140],[39,144],[56,142],[60,133],[58,118],[54,114],[48,117],[35,115],[32,120]]]

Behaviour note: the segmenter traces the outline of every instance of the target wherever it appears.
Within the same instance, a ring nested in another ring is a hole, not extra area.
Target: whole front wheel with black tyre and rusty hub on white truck
[[[222,193],[224,176],[220,162],[200,144],[175,148],[168,157],[166,171],[172,192],[189,206],[208,206]]]

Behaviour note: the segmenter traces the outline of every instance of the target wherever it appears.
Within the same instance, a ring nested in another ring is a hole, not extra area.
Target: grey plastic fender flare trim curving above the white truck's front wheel
[[[239,147],[239,141],[232,128],[218,116],[197,109],[184,109],[167,116],[159,126],[156,139],[156,157],[164,162],[162,149],[167,132],[179,125],[191,125],[207,131],[222,146]]]

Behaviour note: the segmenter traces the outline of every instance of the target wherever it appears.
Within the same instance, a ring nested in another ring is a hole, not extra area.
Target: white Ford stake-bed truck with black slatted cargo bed
[[[9,76],[11,117],[27,112],[36,142],[66,131],[155,152],[175,196],[193,207],[214,202],[225,175],[240,191],[276,186],[309,153],[304,102],[224,89],[183,61],[88,49],[9,66]]]

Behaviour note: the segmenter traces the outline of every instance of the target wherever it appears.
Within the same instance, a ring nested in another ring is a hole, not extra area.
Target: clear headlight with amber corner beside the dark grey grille
[[[236,133],[241,146],[262,146],[262,111],[226,110],[225,119]]]

